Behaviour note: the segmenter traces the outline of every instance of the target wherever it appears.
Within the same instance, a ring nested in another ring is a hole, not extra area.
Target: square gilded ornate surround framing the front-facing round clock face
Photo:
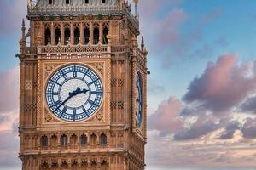
[[[106,64],[107,63],[107,64]],[[65,62],[60,62],[60,61],[43,61],[42,62],[42,67],[40,68],[38,67],[38,69],[40,69],[38,72],[42,71],[43,75],[42,75],[42,82],[40,84],[42,84],[42,87],[38,87],[38,89],[43,89],[43,91],[40,91],[40,93],[44,94],[45,93],[45,88],[47,85],[47,82],[49,82],[49,77],[51,77],[53,75],[53,73],[55,73],[55,71],[57,71],[58,69],[62,68],[63,66],[66,65],[71,65],[71,64],[76,64],[76,65],[85,65],[88,66],[91,70],[96,71],[96,74],[98,74],[98,76],[100,77],[101,81],[104,83],[103,89],[104,89],[104,94],[103,96],[105,96],[107,93],[109,92],[109,82],[108,80],[110,79],[110,74],[109,71],[106,71],[106,68],[109,67],[109,63],[102,60],[99,61],[97,60],[95,61],[88,61],[87,59],[84,60],[80,60],[79,62],[74,62],[73,59],[67,60]],[[105,73],[105,74],[104,74]],[[108,79],[108,80],[107,80]],[[108,84],[107,84],[108,83]],[[106,87],[106,90],[105,90]],[[109,94],[109,93],[108,93]],[[104,98],[104,97],[103,97]],[[64,120],[61,120],[59,117],[55,116],[54,114],[51,113],[51,111],[49,110],[49,106],[46,104],[46,99],[45,99],[45,95],[41,96],[41,100],[44,101],[43,105],[38,105],[38,107],[42,107],[43,109],[41,111],[43,111],[42,116],[43,118],[43,122],[42,125],[47,125],[47,124],[52,124],[52,123],[73,123],[74,122],[67,122]],[[39,103],[38,103],[39,104]],[[96,113],[93,114],[93,116],[90,116],[88,119],[83,120],[83,121],[79,121],[79,122],[75,122],[76,125],[79,125],[79,123],[83,123],[87,122],[85,124],[85,126],[90,126],[91,123],[105,123],[105,124],[109,124],[109,119],[106,119],[107,117],[110,117],[109,115],[106,115],[104,113],[108,113],[108,105],[110,105],[108,103],[108,101],[104,101],[104,99],[102,100],[102,104],[100,105],[100,107],[96,110]],[[39,116],[41,117],[41,116]]]

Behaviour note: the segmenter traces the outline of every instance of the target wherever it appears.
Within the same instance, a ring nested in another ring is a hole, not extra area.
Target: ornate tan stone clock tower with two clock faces
[[[143,170],[147,50],[124,0],[28,0],[20,40],[23,170]]]

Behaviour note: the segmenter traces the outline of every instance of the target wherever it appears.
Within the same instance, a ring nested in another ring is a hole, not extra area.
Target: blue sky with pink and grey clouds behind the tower
[[[151,72],[147,170],[256,167],[255,8],[254,0],[139,1]],[[0,1],[0,169],[20,168],[22,18],[26,0]]]

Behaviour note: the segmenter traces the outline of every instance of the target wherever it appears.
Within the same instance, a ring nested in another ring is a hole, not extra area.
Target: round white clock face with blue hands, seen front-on
[[[45,95],[55,116],[79,122],[93,116],[100,107],[102,82],[95,71],[84,65],[67,65],[49,78]]]

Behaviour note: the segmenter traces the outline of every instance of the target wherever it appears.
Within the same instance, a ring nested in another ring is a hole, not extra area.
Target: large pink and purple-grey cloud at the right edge
[[[201,77],[190,82],[183,101],[196,103],[214,114],[230,111],[255,90],[256,77],[247,77],[252,69],[248,63],[238,65],[236,55],[223,55],[216,63],[210,62]]]

